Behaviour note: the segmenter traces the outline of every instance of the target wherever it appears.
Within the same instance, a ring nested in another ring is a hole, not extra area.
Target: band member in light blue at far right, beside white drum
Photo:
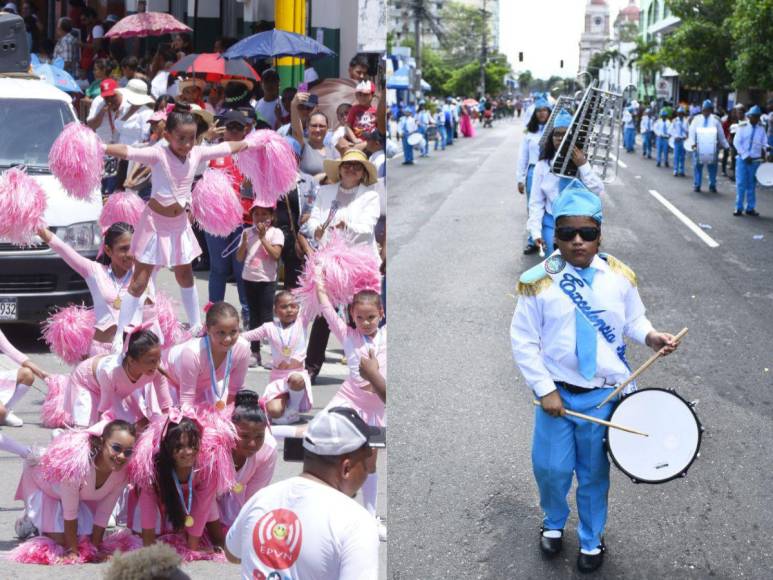
[[[762,109],[754,105],[746,118],[749,122],[738,128],[733,146],[738,152],[735,163],[735,212],[741,215],[746,202],[746,215],[758,216],[754,209],[757,202],[757,169],[765,161],[765,128],[760,124]]]

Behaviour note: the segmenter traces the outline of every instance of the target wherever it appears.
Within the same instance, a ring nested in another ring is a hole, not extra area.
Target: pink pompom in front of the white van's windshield
[[[77,199],[90,199],[102,183],[105,145],[77,121],[65,126],[48,154],[48,166],[62,187]]]

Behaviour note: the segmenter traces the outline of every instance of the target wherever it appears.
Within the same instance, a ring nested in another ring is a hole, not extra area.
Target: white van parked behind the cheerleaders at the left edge
[[[48,169],[48,152],[76,121],[70,96],[31,75],[0,73],[0,171],[24,165],[45,190],[45,220],[57,236],[94,259],[102,200],[76,200]],[[2,208],[0,208],[2,211]],[[91,304],[84,280],[45,244],[18,248],[0,240],[0,323],[39,322],[55,306]]]

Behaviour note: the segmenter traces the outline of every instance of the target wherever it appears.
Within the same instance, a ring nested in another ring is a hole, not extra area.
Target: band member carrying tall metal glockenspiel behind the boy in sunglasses
[[[545,142],[545,147],[540,152],[540,160],[534,167],[531,200],[529,200],[529,219],[526,222],[526,228],[531,233],[535,243],[542,245],[549,254],[553,253],[553,202],[570,181],[553,175],[550,172],[550,163],[561,146],[561,140],[571,123],[572,115],[568,111],[561,111],[556,115],[551,135]],[[596,175],[583,152],[577,147],[572,151],[572,161],[577,166],[578,175],[582,182],[595,194],[601,195],[604,191],[604,182]]]

